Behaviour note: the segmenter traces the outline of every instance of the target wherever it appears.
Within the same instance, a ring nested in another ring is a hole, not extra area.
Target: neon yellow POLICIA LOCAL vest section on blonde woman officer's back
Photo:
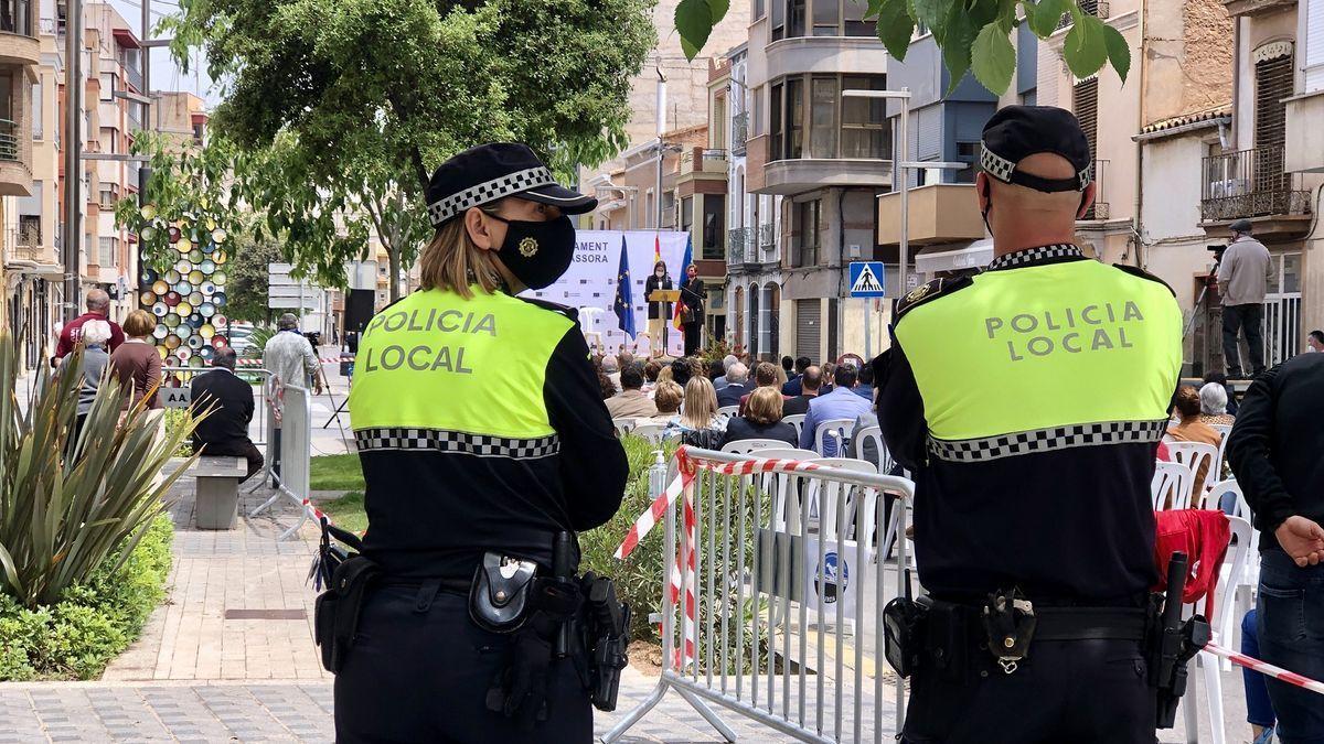
[[[417,291],[359,342],[350,417],[359,449],[487,457],[556,451],[547,363],[573,322],[502,293]]]

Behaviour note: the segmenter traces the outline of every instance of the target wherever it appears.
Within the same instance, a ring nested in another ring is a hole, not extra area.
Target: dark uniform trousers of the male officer
[[[1155,690],[1139,641],[1042,641],[1012,674],[970,646],[964,679],[911,678],[911,744],[1153,744]]]

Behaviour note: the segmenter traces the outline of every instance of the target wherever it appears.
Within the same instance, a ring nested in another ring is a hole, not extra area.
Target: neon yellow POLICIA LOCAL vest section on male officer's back
[[[985,271],[895,332],[949,461],[1157,441],[1181,372],[1172,293],[1096,261]]]

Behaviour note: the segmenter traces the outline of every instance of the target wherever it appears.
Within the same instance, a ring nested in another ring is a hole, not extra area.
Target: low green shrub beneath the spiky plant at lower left
[[[164,597],[173,534],[158,515],[123,563],[127,540],[52,605],[29,609],[0,593],[0,682],[99,676]]]

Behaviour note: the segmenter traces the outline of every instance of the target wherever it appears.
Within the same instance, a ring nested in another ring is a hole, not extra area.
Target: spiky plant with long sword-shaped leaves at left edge
[[[82,349],[62,369],[71,373],[38,372],[38,392],[24,410],[17,346],[0,334],[0,592],[26,606],[58,601],[122,545],[123,561],[188,466],[163,474],[192,422],[163,436],[160,412],[142,402],[120,421],[127,391],[113,379],[102,380],[77,441],[69,441]]]

